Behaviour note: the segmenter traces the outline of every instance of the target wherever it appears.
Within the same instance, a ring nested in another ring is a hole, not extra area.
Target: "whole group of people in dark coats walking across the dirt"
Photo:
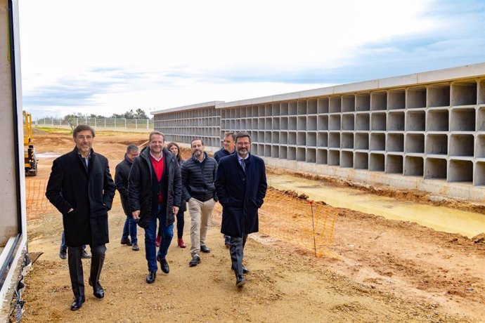
[[[127,216],[121,243],[138,251],[136,226],[145,230],[148,284],[155,282],[157,263],[162,272],[169,273],[167,253],[176,218],[182,221],[178,244],[185,247],[181,231],[186,204],[190,213],[190,267],[201,262],[200,253],[210,252],[206,237],[216,202],[223,207],[221,232],[230,250],[236,286],[245,284],[244,275],[249,270],[243,266],[243,250],[247,235],[258,231],[258,209],[266,195],[264,162],[250,154],[248,133],[226,133],[224,147],[214,154],[215,159],[204,151],[202,139],[195,138],[190,144],[192,156],[179,164],[178,145],[170,143],[169,146],[176,145],[177,149],[168,150],[164,147],[164,135],[153,131],[148,146],[139,154],[136,145],[127,147],[124,160],[116,167],[115,181],[110,175],[108,159],[92,149],[94,137],[95,132],[89,126],[75,128],[75,149],[54,160],[46,189],[48,200],[63,214],[75,296],[71,310],[78,310],[85,301],[81,261],[85,244],[89,244],[92,253],[89,285],[96,298],[104,297],[99,279],[105,244],[109,242],[108,211],[115,189],[119,191]]]

